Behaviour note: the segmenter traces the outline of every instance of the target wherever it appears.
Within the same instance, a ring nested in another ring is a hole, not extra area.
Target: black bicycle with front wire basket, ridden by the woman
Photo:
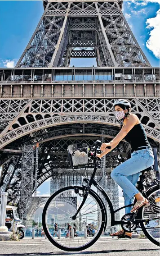
[[[111,212],[111,226],[120,224],[124,229],[124,233],[119,235],[119,238],[127,237],[125,232],[133,232],[140,228],[151,242],[160,246],[159,180],[152,178],[151,187],[145,191],[145,173],[152,170],[153,167],[143,170],[138,181],[138,190],[149,200],[150,206],[141,207],[117,221],[115,220],[115,213],[125,207],[133,206],[133,204],[114,210],[107,193],[95,180],[96,172],[100,172],[101,169],[101,161],[96,157],[100,146],[101,142],[96,141],[94,153],[90,152],[84,143],[73,144],[68,147],[72,169],[85,167],[87,172],[89,165],[94,168],[90,178],[87,176],[84,178],[85,185],[64,187],[55,192],[46,202],[42,224],[47,238],[54,246],[64,251],[81,251],[90,247],[98,240],[102,231],[106,230],[106,205],[108,204]],[[93,189],[91,189],[92,185]],[[53,237],[54,222],[58,223],[58,237]],[[73,224],[76,224],[77,237],[74,237]],[[67,229],[67,227],[70,228]]]

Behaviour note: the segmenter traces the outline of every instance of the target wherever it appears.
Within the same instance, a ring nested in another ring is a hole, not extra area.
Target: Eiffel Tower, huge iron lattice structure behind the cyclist
[[[96,139],[115,137],[117,98],[131,102],[151,146],[159,150],[160,70],[142,52],[122,4],[43,1],[44,13],[16,67],[0,69],[0,191],[9,193],[8,203],[20,200],[24,216],[28,207],[33,214],[44,203],[36,189],[48,178],[52,193],[81,183],[68,171],[67,146],[92,147]],[[71,67],[72,58],[95,58],[97,67]],[[101,185],[115,209],[118,186],[110,173],[129,154],[122,141],[103,158]]]

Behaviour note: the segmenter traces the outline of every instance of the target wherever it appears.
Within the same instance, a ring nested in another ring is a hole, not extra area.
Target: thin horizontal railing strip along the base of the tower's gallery
[[[0,81],[0,84],[65,84],[65,83],[160,83],[160,80],[68,80],[68,81]]]

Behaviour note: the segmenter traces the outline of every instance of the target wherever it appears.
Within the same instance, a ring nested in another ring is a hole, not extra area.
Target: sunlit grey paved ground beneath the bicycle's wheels
[[[159,247],[148,239],[100,238],[88,249],[66,252],[54,247],[48,239],[24,238],[19,242],[0,241],[0,256],[159,256]]]

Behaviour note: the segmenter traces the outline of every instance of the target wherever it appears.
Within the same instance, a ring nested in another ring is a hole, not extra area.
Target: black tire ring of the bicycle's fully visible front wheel
[[[88,242],[87,244],[82,245],[80,247],[66,247],[66,246],[64,246],[62,244],[59,244],[58,242],[56,242],[55,239],[52,238],[52,236],[49,233],[49,230],[48,230],[48,227],[47,227],[47,223],[46,223],[46,218],[47,218],[46,213],[47,213],[49,204],[54,199],[54,197],[58,196],[58,194],[60,194],[62,192],[65,192],[65,191],[68,191],[68,190],[71,190],[71,189],[74,189],[75,187],[77,187],[79,190],[84,191],[84,187],[80,187],[80,186],[69,186],[69,187],[64,187],[64,188],[58,190],[51,197],[49,197],[48,201],[46,202],[46,204],[44,206],[44,210],[43,210],[43,213],[42,213],[42,225],[43,225],[43,229],[44,229],[44,233],[45,233],[46,237],[49,239],[49,241],[54,246],[58,247],[59,249],[61,249],[63,251],[82,251],[82,250],[85,250],[85,249],[89,248],[90,246],[92,246],[98,240],[100,235],[102,234],[102,231],[103,231],[104,225],[105,225],[105,221],[106,221],[106,219],[105,219],[105,211],[104,211],[104,207],[102,205],[102,202],[98,198],[98,195],[96,195],[96,193],[92,189],[90,189],[89,194],[97,201],[97,203],[99,205],[99,208],[101,210],[101,216],[102,216],[101,226],[98,229],[98,232],[96,233],[94,238],[90,242]]]

